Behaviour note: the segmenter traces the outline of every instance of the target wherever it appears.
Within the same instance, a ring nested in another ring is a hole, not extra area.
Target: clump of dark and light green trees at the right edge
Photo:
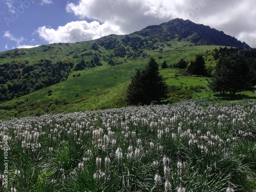
[[[188,75],[211,77],[210,89],[221,95],[255,90],[256,49],[215,49],[181,59],[174,67],[186,69]]]

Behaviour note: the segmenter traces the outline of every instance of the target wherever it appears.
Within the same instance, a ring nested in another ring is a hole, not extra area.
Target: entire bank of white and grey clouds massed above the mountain
[[[256,47],[256,12],[250,10],[256,10],[254,0],[79,0],[68,3],[66,11],[80,21],[57,29],[43,26],[37,32],[49,43],[76,42],[111,33],[129,34],[178,17],[224,31]]]

